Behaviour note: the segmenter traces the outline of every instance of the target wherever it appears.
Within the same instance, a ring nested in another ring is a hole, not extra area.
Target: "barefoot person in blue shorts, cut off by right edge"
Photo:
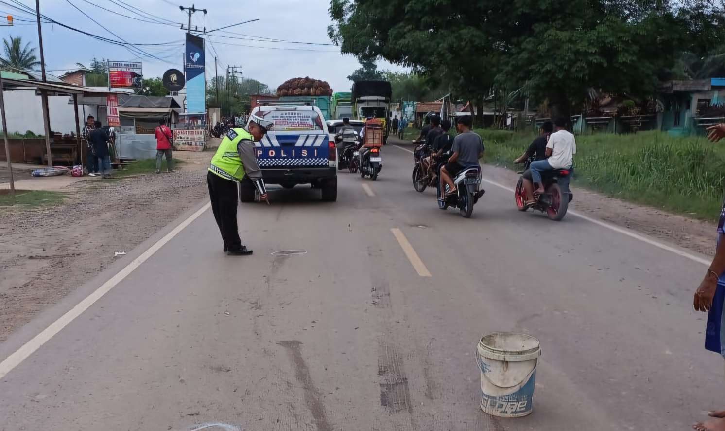
[[[725,123],[708,128],[708,139],[717,142],[725,138]],[[725,359],[725,202],[720,210],[715,257],[695,291],[695,311],[708,311],[705,326],[705,350],[719,353]],[[725,430],[725,409],[711,411],[713,419],[692,425],[697,431]]]

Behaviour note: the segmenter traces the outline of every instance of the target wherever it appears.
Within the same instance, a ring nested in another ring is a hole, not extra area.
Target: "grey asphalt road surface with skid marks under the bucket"
[[[119,258],[0,345],[0,430],[685,430],[725,407],[702,263],[490,184],[467,220],[415,192],[409,152],[383,157],[336,203],[241,205],[251,257],[223,255],[202,202]],[[479,410],[494,331],[541,341],[530,416]]]

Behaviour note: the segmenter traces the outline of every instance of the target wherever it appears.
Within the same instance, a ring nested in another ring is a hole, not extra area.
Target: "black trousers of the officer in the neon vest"
[[[222,234],[224,245],[228,250],[241,249],[241,240],[236,227],[237,182],[207,173],[209,196],[212,200],[212,212],[217,220],[219,231]]]

